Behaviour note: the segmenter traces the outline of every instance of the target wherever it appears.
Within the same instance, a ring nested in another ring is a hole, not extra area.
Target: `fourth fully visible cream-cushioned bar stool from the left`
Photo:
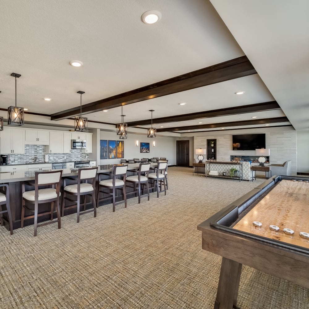
[[[129,186],[128,184],[126,184],[127,187],[129,188],[133,188],[134,191],[132,192],[127,192],[126,194],[131,194],[131,193],[138,193],[138,204],[141,203],[141,197],[143,196],[148,196],[148,201],[149,201],[149,186],[148,186],[148,174],[149,174],[149,168],[150,168],[150,163],[140,163],[139,164],[139,168],[137,171],[137,175],[133,175],[133,176],[128,176],[126,178],[126,183],[131,183],[134,185],[134,187]],[[144,193],[144,185],[146,185],[147,187],[147,194],[143,194],[141,195],[141,185],[143,185],[143,193]]]

